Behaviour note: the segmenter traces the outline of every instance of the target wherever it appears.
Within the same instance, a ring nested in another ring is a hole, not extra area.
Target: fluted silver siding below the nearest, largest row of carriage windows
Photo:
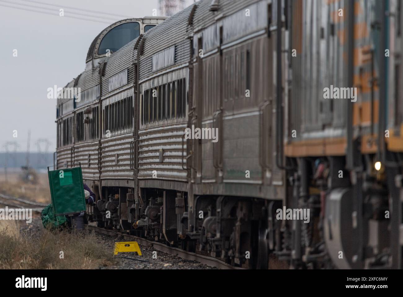
[[[182,137],[186,124],[172,124],[160,128],[147,128],[139,131],[139,174],[138,179],[152,178],[153,171],[157,179],[186,181],[186,141],[182,151]],[[163,150],[162,162],[159,160]],[[182,155],[183,154],[183,155]],[[182,158],[183,156],[183,158]]]

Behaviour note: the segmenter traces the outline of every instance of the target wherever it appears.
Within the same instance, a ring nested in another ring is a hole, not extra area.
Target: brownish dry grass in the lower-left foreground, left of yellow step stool
[[[31,236],[20,234],[15,221],[0,221],[0,251],[0,269],[97,269],[115,264],[113,250],[93,233],[41,230]]]

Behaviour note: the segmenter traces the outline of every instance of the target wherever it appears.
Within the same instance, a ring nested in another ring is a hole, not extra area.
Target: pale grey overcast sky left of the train
[[[112,15],[103,18],[98,14],[100,22],[94,22],[87,20],[93,19],[89,15],[94,15],[88,11],[144,17],[152,15],[157,3],[158,0],[36,0],[31,3],[0,0],[0,152],[8,141],[17,141],[18,151],[25,151],[28,130],[31,130],[31,152],[37,151],[35,142],[43,138],[51,142],[49,152],[54,152],[56,100],[46,97],[47,88],[55,84],[63,87],[77,77],[85,69],[93,38],[108,24],[125,18]],[[191,3],[193,0],[187,0],[186,4]],[[23,10],[43,11],[31,6],[50,10],[46,13]],[[59,16],[60,8],[64,9],[65,17]],[[13,57],[14,49],[17,57]],[[13,130],[17,130],[17,138],[13,138]]]

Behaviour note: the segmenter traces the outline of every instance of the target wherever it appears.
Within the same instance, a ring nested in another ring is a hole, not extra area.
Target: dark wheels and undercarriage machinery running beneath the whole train
[[[100,227],[243,268],[388,268],[397,223],[390,205],[399,201],[390,187],[399,191],[386,184],[393,169],[374,170],[375,156],[362,160],[355,171],[345,169],[344,157],[287,160],[295,170],[285,201],[216,195],[189,201],[176,190],[141,188],[137,197],[131,187],[102,187],[103,198],[87,215]]]

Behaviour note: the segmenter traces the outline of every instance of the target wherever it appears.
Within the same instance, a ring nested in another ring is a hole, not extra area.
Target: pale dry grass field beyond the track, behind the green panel
[[[0,174],[0,193],[17,198],[26,198],[40,203],[50,203],[49,180],[47,173],[37,173],[38,183],[32,185],[20,180],[19,173]]]

